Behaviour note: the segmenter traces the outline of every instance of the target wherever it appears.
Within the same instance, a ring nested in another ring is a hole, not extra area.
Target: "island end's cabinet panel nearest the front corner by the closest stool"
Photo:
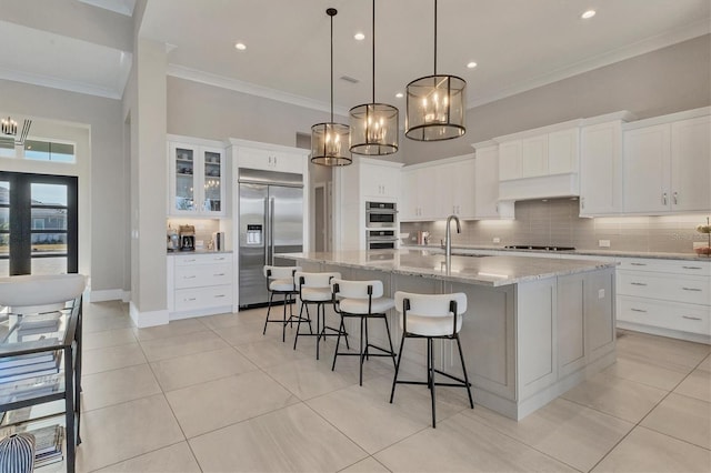
[[[518,286],[518,313],[525,313],[517,321],[518,399],[525,399],[553,384],[558,375],[557,289],[555,278]]]

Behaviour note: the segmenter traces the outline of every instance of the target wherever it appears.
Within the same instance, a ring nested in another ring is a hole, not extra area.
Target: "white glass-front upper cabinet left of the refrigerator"
[[[224,215],[224,150],[169,143],[171,215]]]

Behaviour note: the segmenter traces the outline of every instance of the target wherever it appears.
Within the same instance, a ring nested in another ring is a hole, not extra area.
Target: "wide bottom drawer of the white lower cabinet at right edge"
[[[709,306],[620,295],[617,318],[621,322],[711,335]]]

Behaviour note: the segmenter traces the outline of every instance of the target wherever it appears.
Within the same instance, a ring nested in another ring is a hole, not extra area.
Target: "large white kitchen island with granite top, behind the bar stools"
[[[474,402],[520,420],[615,360],[614,265],[607,261],[452,256],[427,250],[289,253],[304,271],[381,280],[385,293],[464,292],[460,333]],[[333,314],[330,314],[333,316]],[[399,346],[397,312],[390,314]],[[333,321],[334,323],[338,323]],[[384,342],[372,324],[371,339]],[[350,336],[358,330],[347,326]],[[438,368],[461,373],[453,342],[437,348]],[[408,342],[402,369],[424,378],[425,345]],[[385,393],[383,393],[385,395]]]

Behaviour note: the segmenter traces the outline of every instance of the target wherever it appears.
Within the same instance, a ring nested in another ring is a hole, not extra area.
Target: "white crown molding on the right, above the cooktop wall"
[[[507,97],[515,95],[517,93],[527,92],[539,87],[548,85],[550,83],[558,82],[560,80],[568,79],[584,72],[589,72],[604,66],[610,66],[625,59],[634,58],[635,56],[645,54],[648,52],[657,51],[672,44],[709,34],[710,32],[711,24],[709,24],[708,21],[695,21],[693,23],[665,31],[662,34],[647,38],[635,43],[584,59],[570,67],[558,69],[531,80],[519,82],[510,88],[499,90],[494,93],[487,93],[485,97],[469,101],[467,103],[467,109],[472,109],[474,107],[480,107],[487,103],[494,102],[497,100],[505,99]]]

